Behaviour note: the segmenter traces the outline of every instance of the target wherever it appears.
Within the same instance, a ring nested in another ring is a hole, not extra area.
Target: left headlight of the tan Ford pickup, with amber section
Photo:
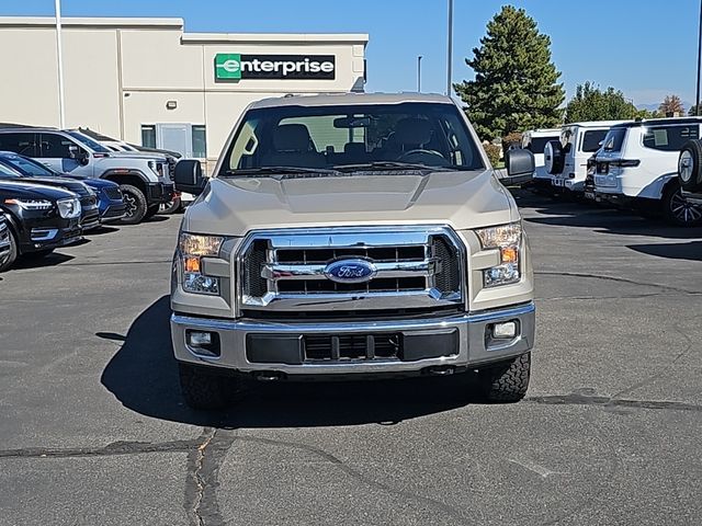
[[[178,240],[183,266],[183,289],[188,293],[219,295],[219,278],[203,273],[202,258],[217,258],[224,238],[181,232]]]

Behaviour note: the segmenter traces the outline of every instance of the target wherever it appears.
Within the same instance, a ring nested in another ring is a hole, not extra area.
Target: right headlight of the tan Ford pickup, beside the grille
[[[521,222],[510,222],[499,227],[475,230],[483,249],[500,251],[500,264],[483,271],[483,285],[498,287],[510,285],[521,279],[519,253],[522,245]]]

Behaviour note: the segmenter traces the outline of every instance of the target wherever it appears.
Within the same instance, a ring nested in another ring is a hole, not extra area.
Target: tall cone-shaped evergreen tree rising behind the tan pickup
[[[454,89],[483,140],[562,123],[565,93],[551,59],[551,38],[523,9],[503,7],[473,54],[465,62],[475,80]]]

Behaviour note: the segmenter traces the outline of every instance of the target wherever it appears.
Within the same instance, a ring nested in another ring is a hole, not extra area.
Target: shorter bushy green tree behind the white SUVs
[[[636,106],[624,93],[610,87],[602,91],[595,82],[578,84],[575,96],[566,106],[566,122],[621,121],[636,117]]]

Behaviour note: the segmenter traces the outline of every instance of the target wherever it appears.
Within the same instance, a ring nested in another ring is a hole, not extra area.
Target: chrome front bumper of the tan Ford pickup
[[[534,342],[534,317],[533,302],[479,313],[381,321],[284,323],[174,313],[171,317],[171,336],[178,361],[239,373],[268,373],[286,377],[358,374],[405,376],[437,368],[461,370],[526,353]],[[491,336],[495,323],[510,321],[518,328],[514,338],[496,340]],[[213,341],[218,342],[219,355],[207,355],[190,346],[188,334],[191,331],[216,334]],[[305,339],[310,336],[369,338],[387,333],[398,335],[400,341],[414,342],[415,351],[410,359],[405,356],[312,361],[301,348]],[[426,345],[426,352],[417,352],[422,342],[441,342],[441,345]],[[254,345],[262,352],[252,353]],[[275,351],[267,353],[267,346]],[[278,359],[270,359],[271,356]]]

